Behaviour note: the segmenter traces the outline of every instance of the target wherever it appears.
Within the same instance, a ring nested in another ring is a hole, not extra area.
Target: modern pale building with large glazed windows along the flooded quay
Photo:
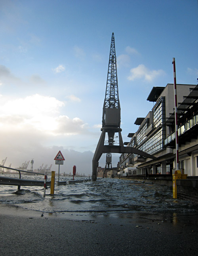
[[[152,160],[135,154],[121,154],[118,174],[148,176],[172,174],[175,169],[174,86],[153,87],[148,101],[155,102],[145,118],[137,118],[136,132],[125,145],[158,157]],[[177,84],[179,165],[188,176],[198,176],[198,86]]]

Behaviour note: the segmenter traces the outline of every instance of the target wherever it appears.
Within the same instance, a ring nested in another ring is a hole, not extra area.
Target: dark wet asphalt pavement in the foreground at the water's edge
[[[0,256],[198,255],[198,213],[42,213],[0,204]]]

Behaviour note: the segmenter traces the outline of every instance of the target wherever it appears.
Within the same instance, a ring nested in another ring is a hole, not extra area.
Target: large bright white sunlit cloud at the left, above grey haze
[[[2,96],[3,97],[3,96]],[[52,136],[82,134],[87,124],[78,117],[59,115],[65,104],[55,97],[35,94],[25,98],[1,100],[0,127],[4,132],[34,130]]]

